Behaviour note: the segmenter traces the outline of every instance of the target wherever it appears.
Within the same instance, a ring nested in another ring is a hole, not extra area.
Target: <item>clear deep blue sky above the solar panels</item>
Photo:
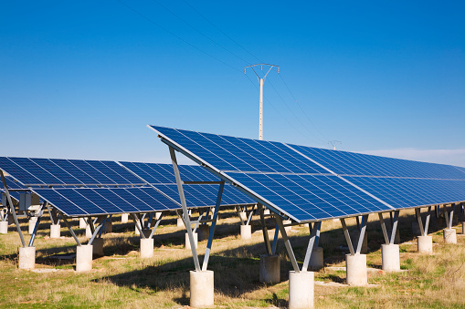
[[[462,1],[3,1],[0,156],[169,162],[148,124],[258,139],[259,63],[264,139],[465,167]]]

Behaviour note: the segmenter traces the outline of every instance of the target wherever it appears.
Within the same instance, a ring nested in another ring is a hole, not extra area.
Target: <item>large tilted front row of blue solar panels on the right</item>
[[[149,126],[295,221],[465,201],[465,168]]]

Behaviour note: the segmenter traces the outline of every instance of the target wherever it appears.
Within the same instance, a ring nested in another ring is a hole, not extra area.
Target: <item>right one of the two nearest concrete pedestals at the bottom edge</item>
[[[289,309],[313,308],[314,273],[289,272]]]

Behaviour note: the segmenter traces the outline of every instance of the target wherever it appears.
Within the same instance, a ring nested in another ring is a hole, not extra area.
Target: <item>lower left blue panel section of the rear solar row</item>
[[[68,216],[167,211],[180,204],[151,187],[34,189],[42,199]]]

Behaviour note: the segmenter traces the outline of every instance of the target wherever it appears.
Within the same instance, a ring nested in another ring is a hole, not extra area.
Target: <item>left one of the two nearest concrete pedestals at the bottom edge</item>
[[[193,308],[210,308],[214,306],[213,271],[190,271],[190,306]]]

